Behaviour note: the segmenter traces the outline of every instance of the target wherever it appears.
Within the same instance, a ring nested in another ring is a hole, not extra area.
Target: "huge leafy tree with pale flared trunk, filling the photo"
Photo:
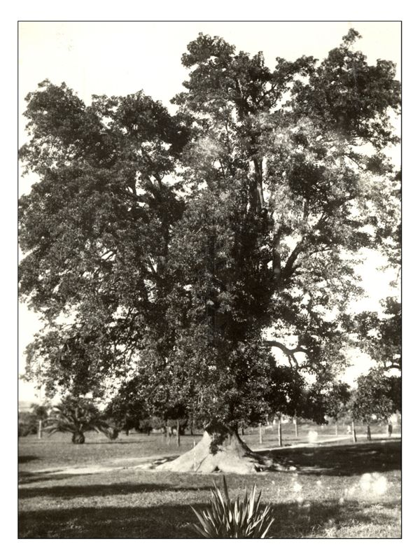
[[[293,376],[322,386],[342,370],[359,251],[394,242],[384,148],[400,87],[357,37],[270,70],[200,34],[174,117],[143,92],[90,106],[64,84],[29,94],[21,157],[39,180],[20,200],[20,290],[45,320],[29,377],[94,395],[137,379],[152,408],[206,426],[164,468],[264,467],[239,422]]]

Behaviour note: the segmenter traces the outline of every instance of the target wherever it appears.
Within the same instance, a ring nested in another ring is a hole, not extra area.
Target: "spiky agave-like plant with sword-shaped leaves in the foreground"
[[[255,499],[255,484],[249,496],[246,490],[243,498],[231,500],[223,477],[223,490],[224,497],[214,482],[210,507],[199,513],[191,506],[200,521],[200,525],[193,524],[194,531],[204,538],[266,538],[274,517],[269,505],[262,509],[261,491]]]

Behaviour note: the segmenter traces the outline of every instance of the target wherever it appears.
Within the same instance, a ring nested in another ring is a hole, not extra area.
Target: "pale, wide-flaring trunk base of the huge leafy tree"
[[[206,427],[202,440],[193,449],[157,467],[157,470],[173,472],[234,472],[244,475],[267,469],[288,470],[288,467],[251,451],[237,430],[230,430],[217,422]]]

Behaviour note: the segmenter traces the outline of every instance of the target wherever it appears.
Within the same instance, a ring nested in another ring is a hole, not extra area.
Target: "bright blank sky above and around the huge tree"
[[[22,117],[25,97],[45,78],[56,84],[65,82],[87,104],[92,94],[125,95],[144,90],[169,107],[170,99],[188,77],[181,55],[200,32],[222,36],[237,50],[251,54],[262,51],[267,66],[274,68],[276,57],[325,57],[351,27],[363,37],[356,46],[368,62],[392,60],[400,79],[399,22],[20,22],[19,143],[26,139]],[[398,158],[398,151],[393,157]],[[30,186],[30,177],[22,179],[20,193],[29,192]],[[378,255],[371,253],[360,268],[367,297],[358,302],[357,311],[379,310],[379,300],[391,295],[388,284],[393,275],[379,272],[377,267],[382,264]],[[19,325],[22,373],[22,353],[39,328],[36,316],[23,304]],[[367,367],[366,360],[356,356],[354,362],[347,372],[349,381]],[[42,398],[42,393],[37,395],[34,386],[20,382],[20,400],[39,396]]]

